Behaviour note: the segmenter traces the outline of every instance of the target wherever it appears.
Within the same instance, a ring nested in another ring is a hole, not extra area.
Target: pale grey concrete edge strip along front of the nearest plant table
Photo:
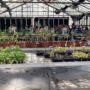
[[[25,49],[26,50],[26,49]],[[28,50],[28,49],[27,49]],[[32,51],[32,49],[30,49]],[[37,50],[41,50],[40,48],[38,48]],[[44,50],[44,49],[43,49]],[[48,49],[47,49],[48,50]],[[24,49],[23,49],[24,51]],[[39,59],[39,58],[38,58]],[[60,60],[60,59],[58,59]],[[90,65],[90,61],[88,59],[85,61],[62,61],[62,62],[52,62],[52,63],[22,63],[22,64],[1,64],[0,68],[31,68],[31,67],[71,67],[71,66],[81,66],[81,65]]]

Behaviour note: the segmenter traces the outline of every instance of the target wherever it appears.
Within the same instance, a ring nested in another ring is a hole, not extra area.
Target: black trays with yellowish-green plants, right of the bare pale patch
[[[64,48],[54,47],[46,52],[40,51],[37,56],[49,58],[52,62],[76,62],[90,61],[90,48]]]

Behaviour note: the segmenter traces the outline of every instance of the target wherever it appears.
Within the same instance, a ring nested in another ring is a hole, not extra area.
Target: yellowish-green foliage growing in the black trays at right
[[[65,47],[54,47],[52,50],[48,52],[53,57],[59,57],[59,58],[75,58],[83,60],[84,58],[90,58],[90,48],[84,47],[84,48],[73,48],[69,50]]]

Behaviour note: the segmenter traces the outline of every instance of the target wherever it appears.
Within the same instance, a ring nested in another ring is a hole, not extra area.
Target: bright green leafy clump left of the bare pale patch
[[[23,63],[25,57],[25,53],[18,46],[0,49],[0,64]]]

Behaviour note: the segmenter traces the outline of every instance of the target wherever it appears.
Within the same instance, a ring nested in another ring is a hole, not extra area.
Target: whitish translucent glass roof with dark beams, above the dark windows
[[[7,17],[10,16],[10,13],[13,17],[29,17],[33,15],[48,16],[48,13],[49,15],[55,16],[55,10],[61,10],[65,6],[68,6],[68,8],[58,15],[90,13],[90,0],[85,0],[77,7],[73,7],[73,3],[77,3],[78,1],[79,0],[0,0],[0,16]]]

